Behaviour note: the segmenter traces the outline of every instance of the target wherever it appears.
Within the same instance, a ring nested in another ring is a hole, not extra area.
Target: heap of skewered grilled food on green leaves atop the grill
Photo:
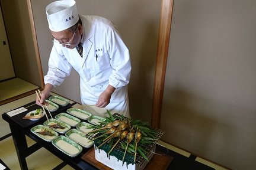
[[[106,117],[105,122],[102,122],[101,125],[97,125],[97,127],[91,126],[91,128],[94,129],[98,128],[92,132],[98,134],[96,138],[91,136],[91,140],[95,141],[95,146],[97,148],[103,148],[107,155],[109,155],[114,150],[114,148],[123,149],[124,155],[122,156],[122,160],[123,162],[129,162],[128,164],[135,164],[136,162],[139,163],[142,160],[142,157],[149,161],[146,156],[148,155],[147,152],[149,152],[148,149],[152,147],[154,145],[153,143],[159,139],[161,133],[159,135],[158,130],[152,129],[148,123],[142,122],[141,120],[132,120],[122,115],[111,115],[109,111],[108,115],[109,117]],[[112,125],[111,128],[116,128],[113,133],[107,133],[107,131],[111,129],[107,128],[108,125]],[[124,138],[120,136],[123,131],[126,131]],[[116,137],[119,138],[114,139]],[[105,146],[101,147],[103,145]],[[109,150],[109,148],[111,149]],[[129,152],[129,156],[132,156],[132,159],[128,159],[129,157],[125,159],[126,156],[128,156],[127,152]],[[114,155],[115,153],[111,154]]]

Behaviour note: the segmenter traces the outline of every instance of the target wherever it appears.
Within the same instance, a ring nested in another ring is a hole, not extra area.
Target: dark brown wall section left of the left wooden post
[[[1,6],[15,74],[40,86],[27,0],[1,0]]]

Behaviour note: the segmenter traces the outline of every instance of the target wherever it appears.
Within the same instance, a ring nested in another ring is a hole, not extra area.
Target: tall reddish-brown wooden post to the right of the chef
[[[156,53],[155,83],[153,88],[152,128],[160,128],[161,123],[162,99],[164,94],[173,5],[174,0],[162,0],[158,33],[158,50]]]

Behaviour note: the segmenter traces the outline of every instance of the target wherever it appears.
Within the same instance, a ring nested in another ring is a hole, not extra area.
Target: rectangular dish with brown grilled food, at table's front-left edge
[[[47,142],[51,142],[53,139],[59,136],[57,132],[43,125],[34,126],[30,129],[30,131]]]

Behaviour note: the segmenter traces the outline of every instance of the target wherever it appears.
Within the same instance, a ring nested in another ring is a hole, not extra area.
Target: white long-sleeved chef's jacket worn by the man
[[[97,103],[100,94],[110,84],[116,90],[105,109],[129,117],[127,84],[132,68],[129,50],[121,40],[119,32],[107,19],[88,15],[81,15],[80,18],[84,28],[81,40],[83,57],[76,48],[68,49],[53,43],[44,83],[59,86],[73,67],[80,76],[83,105]]]

